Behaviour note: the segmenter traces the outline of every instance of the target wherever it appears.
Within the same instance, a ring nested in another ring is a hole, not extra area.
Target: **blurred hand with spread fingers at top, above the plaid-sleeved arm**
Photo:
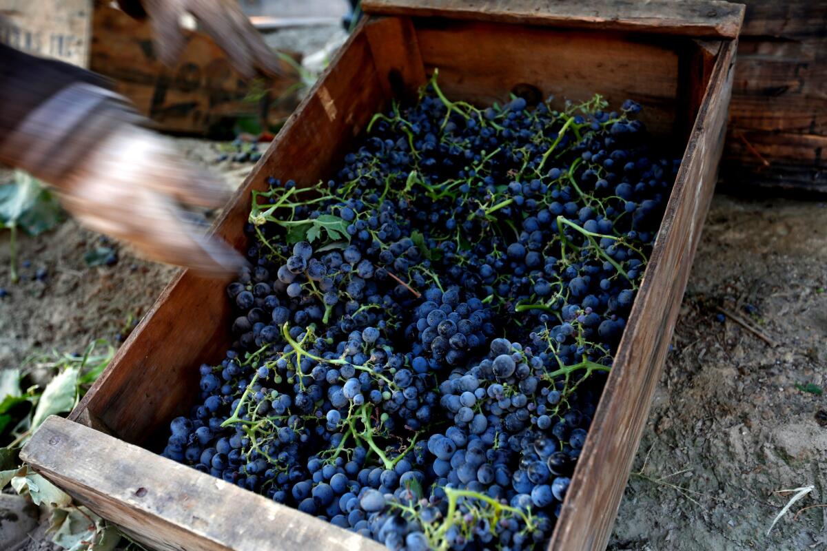
[[[141,0],[141,6],[150,18],[155,49],[165,64],[174,64],[184,49],[180,20],[189,13],[246,78],[256,76],[256,70],[271,77],[282,74],[278,59],[237,0]]]

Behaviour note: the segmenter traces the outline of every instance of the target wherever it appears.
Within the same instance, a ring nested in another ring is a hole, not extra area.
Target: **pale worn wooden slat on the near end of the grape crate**
[[[152,549],[385,549],[292,507],[60,417],[49,417],[20,457]]]

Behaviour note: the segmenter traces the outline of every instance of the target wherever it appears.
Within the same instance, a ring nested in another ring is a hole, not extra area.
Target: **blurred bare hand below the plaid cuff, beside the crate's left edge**
[[[63,205],[85,226],[128,241],[154,260],[204,275],[237,272],[245,260],[217,238],[200,235],[180,203],[219,207],[226,192],[194,169],[164,137],[124,123],[60,183]]]

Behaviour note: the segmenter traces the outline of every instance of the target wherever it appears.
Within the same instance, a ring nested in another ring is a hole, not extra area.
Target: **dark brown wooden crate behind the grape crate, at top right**
[[[722,181],[827,195],[827,1],[744,3]]]

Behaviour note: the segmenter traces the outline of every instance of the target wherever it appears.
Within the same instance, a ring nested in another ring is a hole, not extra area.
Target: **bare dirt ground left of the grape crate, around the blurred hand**
[[[175,139],[194,163],[222,175],[235,188],[252,169],[251,163],[216,162],[213,142]],[[263,148],[262,148],[263,149]],[[0,178],[9,172],[0,173]],[[118,344],[155,302],[177,268],[138,259],[126,247],[108,242],[67,220],[56,230],[18,239],[22,280],[9,283],[9,235],[0,231],[0,368],[21,365],[39,352],[83,352],[86,344],[106,339]],[[105,239],[105,238],[103,238]],[[84,254],[100,246],[117,252],[117,264],[89,268]],[[24,266],[28,265],[28,268]],[[41,281],[35,275],[46,270]]]

